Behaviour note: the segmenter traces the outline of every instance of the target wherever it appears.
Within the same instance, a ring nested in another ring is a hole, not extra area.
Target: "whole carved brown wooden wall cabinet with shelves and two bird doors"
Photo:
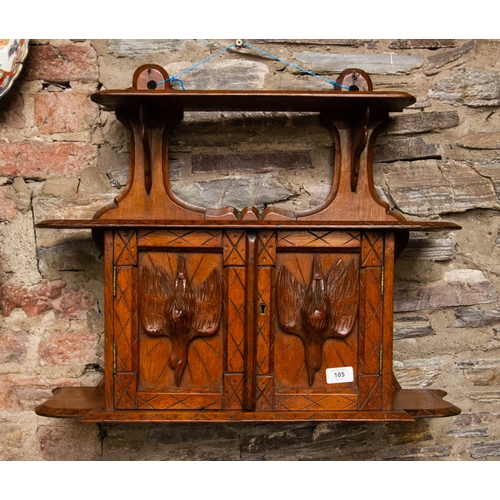
[[[372,90],[177,91],[141,66],[133,87],[98,92],[130,133],[128,184],[91,220],[102,244],[104,378],[59,388],[39,415],[82,422],[407,420],[456,415],[440,390],[393,375],[394,262],[409,231],[452,230],[390,210],[373,184],[375,139],[415,98]],[[356,90],[357,89],[357,90]],[[168,178],[168,132],[184,111],[319,112],[335,144],[318,207],[205,209]]]

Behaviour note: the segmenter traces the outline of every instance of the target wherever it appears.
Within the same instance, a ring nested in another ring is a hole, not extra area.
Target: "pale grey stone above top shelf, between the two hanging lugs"
[[[193,61],[171,63],[167,65],[166,69],[170,77],[178,75],[183,81],[184,87],[190,90],[263,89],[266,75],[269,73],[266,64],[237,59],[212,60],[187,73],[180,74],[193,63]],[[173,88],[177,88],[176,85],[179,84],[173,83]]]

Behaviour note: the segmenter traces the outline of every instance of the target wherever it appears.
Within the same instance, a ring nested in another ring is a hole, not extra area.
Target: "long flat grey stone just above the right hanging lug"
[[[305,69],[316,73],[341,73],[347,68],[360,68],[371,74],[410,73],[423,64],[418,56],[397,54],[325,54],[294,52],[293,57]],[[292,70],[300,73],[298,70]]]

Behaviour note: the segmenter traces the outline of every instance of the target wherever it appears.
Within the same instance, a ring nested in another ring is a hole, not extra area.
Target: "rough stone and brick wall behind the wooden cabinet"
[[[4,460],[498,460],[500,458],[500,41],[248,40],[335,79],[417,103],[376,150],[380,193],[409,219],[463,230],[412,234],[397,263],[395,373],[462,408],[416,423],[80,424],[37,417],[58,386],[93,386],[103,366],[102,256],[89,218],[126,183],[127,137],[89,96],[125,88],[146,62],[170,75],[232,40],[32,40],[0,101],[0,457]],[[323,89],[248,49],[186,73],[189,89]],[[314,115],[187,115],[173,133],[174,190],[203,206],[307,209],[331,183],[331,139]]]

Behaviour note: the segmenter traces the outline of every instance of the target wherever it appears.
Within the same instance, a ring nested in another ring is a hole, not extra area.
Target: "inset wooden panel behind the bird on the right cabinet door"
[[[352,404],[358,372],[359,253],[282,252],[276,273],[276,391],[345,392]],[[328,384],[326,369],[343,367],[352,368],[354,379]],[[336,405],[331,400],[328,407]]]

